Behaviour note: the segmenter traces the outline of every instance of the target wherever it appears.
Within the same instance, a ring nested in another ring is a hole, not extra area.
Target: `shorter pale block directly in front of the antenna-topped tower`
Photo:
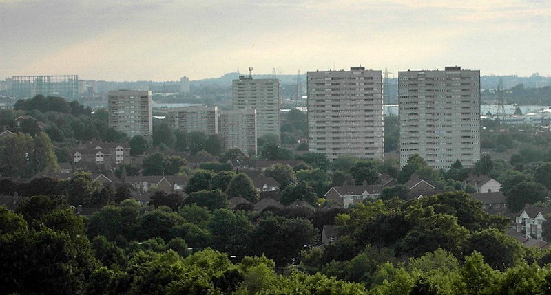
[[[256,154],[256,110],[220,111],[220,135],[226,149]]]

